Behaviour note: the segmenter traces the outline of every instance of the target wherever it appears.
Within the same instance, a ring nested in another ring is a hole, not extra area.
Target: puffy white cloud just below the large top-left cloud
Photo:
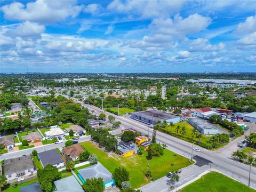
[[[21,37],[23,39],[37,39],[41,38],[41,34],[44,33],[45,27],[38,25],[34,22],[23,22],[17,25],[15,29],[9,29],[5,35],[12,37]]]

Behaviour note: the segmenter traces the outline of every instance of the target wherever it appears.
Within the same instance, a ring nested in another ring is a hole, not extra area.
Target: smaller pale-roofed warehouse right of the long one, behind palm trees
[[[208,123],[207,121],[201,118],[189,118],[188,123],[194,126],[202,134],[217,134],[219,132],[217,126]]]

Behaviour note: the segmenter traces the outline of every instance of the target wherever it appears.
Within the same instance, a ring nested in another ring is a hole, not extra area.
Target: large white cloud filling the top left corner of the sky
[[[68,17],[76,17],[82,10],[82,6],[75,5],[76,1],[47,1],[37,0],[23,5],[14,2],[4,5],[1,10],[4,18],[13,21],[31,21],[43,24],[65,20]]]

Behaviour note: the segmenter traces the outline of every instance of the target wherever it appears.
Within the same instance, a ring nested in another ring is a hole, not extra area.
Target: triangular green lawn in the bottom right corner
[[[255,191],[242,183],[230,179],[229,177],[217,173],[210,172],[205,174],[202,178],[191,183],[181,190],[182,192],[250,192]]]

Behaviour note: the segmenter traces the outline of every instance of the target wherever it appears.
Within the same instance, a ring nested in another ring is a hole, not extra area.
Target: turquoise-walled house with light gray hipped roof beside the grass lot
[[[85,183],[86,179],[102,178],[104,187],[115,185],[112,174],[100,163],[78,170],[78,177]]]

